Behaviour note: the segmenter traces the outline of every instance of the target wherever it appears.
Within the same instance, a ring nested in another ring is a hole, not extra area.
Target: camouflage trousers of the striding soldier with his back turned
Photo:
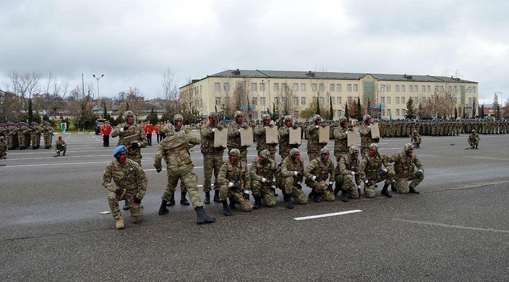
[[[169,166],[166,170],[168,174],[168,184],[164,190],[164,194],[161,196],[163,201],[169,201],[175,195],[175,189],[177,183],[180,182],[180,191],[183,190],[183,186],[189,194],[193,208],[203,207],[202,199],[200,198],[200,192],[198,191],[198,177],[193,172],[192,165],[183,166]]]

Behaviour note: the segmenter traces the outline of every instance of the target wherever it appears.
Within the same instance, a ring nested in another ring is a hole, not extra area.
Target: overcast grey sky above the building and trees
[[[225,69],[442,75],[479,82],[481,102],[509,96],[507,1],[3,0],[0,79],[12,70],[130,85],[158,96]],[[96,84],[94,84],[96,85]],[[0,84],[0,89],[4,84]]]

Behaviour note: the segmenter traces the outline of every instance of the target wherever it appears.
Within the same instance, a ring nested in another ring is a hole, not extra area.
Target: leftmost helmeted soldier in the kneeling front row
[[[249,202],[249,190],[251,179],[247,164],[240,160],[240,151],[237,148],[231,149],[228,154],[228,161],[223,162],[219,170],[219,195],[223,204],[223,214],[232,215],[227,199],[230,198],[230,207],[235,208],[235,203],[240,205],[243,211],[251,211],[253,204]]]

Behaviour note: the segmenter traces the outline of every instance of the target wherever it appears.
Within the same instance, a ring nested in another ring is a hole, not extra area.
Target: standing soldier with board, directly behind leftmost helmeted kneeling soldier
[[[217,120],[217,112],[211,112],[208,122],[204,123],[200,130],[200,135],[202,136],[200,149],[203,154],[203,192],[205,192],[205,204],[210,203],[212,172],[214,173],[214,202],[221,202],[217,175],[223,162],[224,147],[214,147],[214,133],[216,130],[223,130],[223,127]]]

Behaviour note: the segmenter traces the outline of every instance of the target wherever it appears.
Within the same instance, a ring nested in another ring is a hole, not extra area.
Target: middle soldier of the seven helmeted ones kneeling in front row
[[[309,165],[304,169],[304,176],[306,177],[306,185],[311,188],[309,197],[313,197],[314,201],[320,203],[320,197],[325,201],[334,201],[334,163],[329,159],[329,149],[322,148],[320,156],[309,162]],[[330,177],[329,177],[330,175]],[[329,184],[325,181],[329,179]]]

